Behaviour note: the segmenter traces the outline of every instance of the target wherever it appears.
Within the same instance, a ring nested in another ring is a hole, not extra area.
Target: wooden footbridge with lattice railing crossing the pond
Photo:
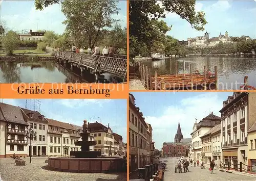
[[[77,67],[88,67],[95,73],[111,73],[123,80],[127,75],[127,56],[114,55],[114,57],[95,56],[89,54],[72,53],[71,51],[57,51],[57,60],[67,60],[77,64]]]

